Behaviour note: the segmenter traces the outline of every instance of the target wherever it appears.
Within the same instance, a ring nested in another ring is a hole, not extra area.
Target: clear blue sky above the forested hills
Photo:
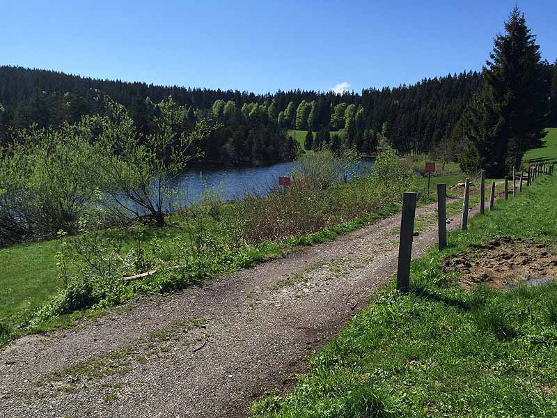
[[[0,64],[274,92],[479,70],[515,1],[0,0]],[[557,58],[557,1],[519,7]]]

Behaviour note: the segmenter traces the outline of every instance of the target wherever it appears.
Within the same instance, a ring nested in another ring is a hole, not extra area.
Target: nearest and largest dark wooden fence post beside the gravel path
[[[416,216],[416,193],[405,192],[402,200],[402,217],[400,218],[400,242],[398,245],[398,270],[396,288],[407,291],[410,284],[410,260],[412,256],[412,239],[414,234],[414,217]]]

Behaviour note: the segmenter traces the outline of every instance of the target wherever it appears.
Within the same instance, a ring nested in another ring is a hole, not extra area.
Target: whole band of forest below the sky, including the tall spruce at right
[[[177,134],[202,119],[219,125],[187,150],[197,162],[292,160],[299,145],[287,130],[296,129],[313,132],[313,144],[306,141],[305,148],[327,146],[336,151],[355,146],[359,153],[372,155],[379,144],[389,144],[401,155],[442,152],[460,161],[465,171],[484,165],[501,175],[510,164],[519,166],[521,153],[540,140],[544,127],[557,126],[557,60],[541,61],[540,47],[518,9],[505,30],[496,38],[483,72],[368,88],[359,94],[155,86],[5,65],[0,67],[0,148],[17,141],[18,130],[57,128],[78,123],[85,115],[102,114],[101,96],[125,107],[139,139],[155,132],[161,103],[172,98],[183,109]],[[510,121],[517,114],[529,122],[494,122]],[[487,132],[494,125],[499,132]],[[343,135],[334,133],[341,130]],[[483,156],[489,153],[497,154],[493,161]]]

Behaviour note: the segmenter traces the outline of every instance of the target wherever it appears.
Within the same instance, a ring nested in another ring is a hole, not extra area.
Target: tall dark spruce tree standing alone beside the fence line
[[[524,151],[544,137],[547,86],[539,49],[515,6],[505,33],[494,40],[483,86],[463,116],[469,139],[460,160],[464,171],[485,169],[489,177],[502,177],[519,168]]]

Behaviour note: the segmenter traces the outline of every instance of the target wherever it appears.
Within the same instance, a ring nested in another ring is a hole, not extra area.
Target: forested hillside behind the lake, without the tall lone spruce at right
[[[544,61],[541,67],[548,98],[546,124],[555,126],[557,61]],[[400,154],[450,148],[449,157],[457,160],[463,141],[454,138],[455,132],[462,131],[464,110],[482,80],[480,72],[461,72],[409,86],[367,88],[360,94],[300,90],[255,94],[91,79],[5,65],[0,67],[0,146],[17,139],[14,130],[71,125],[84,115],[102,114],[101,94],[127,109],[138,137],[155,131],[159,104],[168,97],[185,108],[182,130],[202,118],[218,121],[219,130],[190,148],[194,162],[271,164],[292,160],[297,150],[285,133],[288,129],[320,132],[322,139],[342,130],[340,147],[356,146],[364,154],[375,153],[383,139]]]

